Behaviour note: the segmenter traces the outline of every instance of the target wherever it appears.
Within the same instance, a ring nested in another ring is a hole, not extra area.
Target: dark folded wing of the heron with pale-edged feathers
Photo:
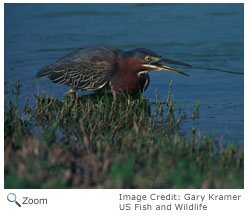
[[[116,57],[119,51],[112,47],[78,49],[40,70],[37,77],[48,77],[54,83],[66,84],[74,89],[96,91],[117,70]]]

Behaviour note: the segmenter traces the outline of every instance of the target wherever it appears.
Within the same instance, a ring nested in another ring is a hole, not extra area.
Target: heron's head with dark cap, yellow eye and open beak
[[[162,56],[158,55],[157,53],[149,49],[138,48],[132,51],[128,51],[127,55],[130,57],[133,56],[133,57],[137,57],[140,59],[139,64],[141,65],[141,68],[140,68],[139,74],[143,72],[148,72],[148,71],[166,70],[166,71],[172,71],[181,75],[189,76],[188,74],[185,74],[181,71],[178,71],[162,63],[191,67],[190,65],[180,62],[180,61],[174,61],[168,58],[163,58]]]

